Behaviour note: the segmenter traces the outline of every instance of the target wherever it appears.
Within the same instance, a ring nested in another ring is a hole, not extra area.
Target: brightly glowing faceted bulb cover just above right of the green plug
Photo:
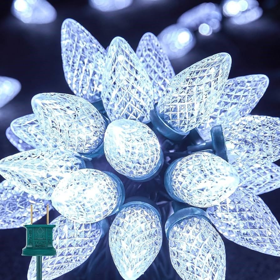
[[[110,215],[121,200],[117,182],[95,169],[73,171],[51,196],[60,214],[79,223],[94,223]]]

